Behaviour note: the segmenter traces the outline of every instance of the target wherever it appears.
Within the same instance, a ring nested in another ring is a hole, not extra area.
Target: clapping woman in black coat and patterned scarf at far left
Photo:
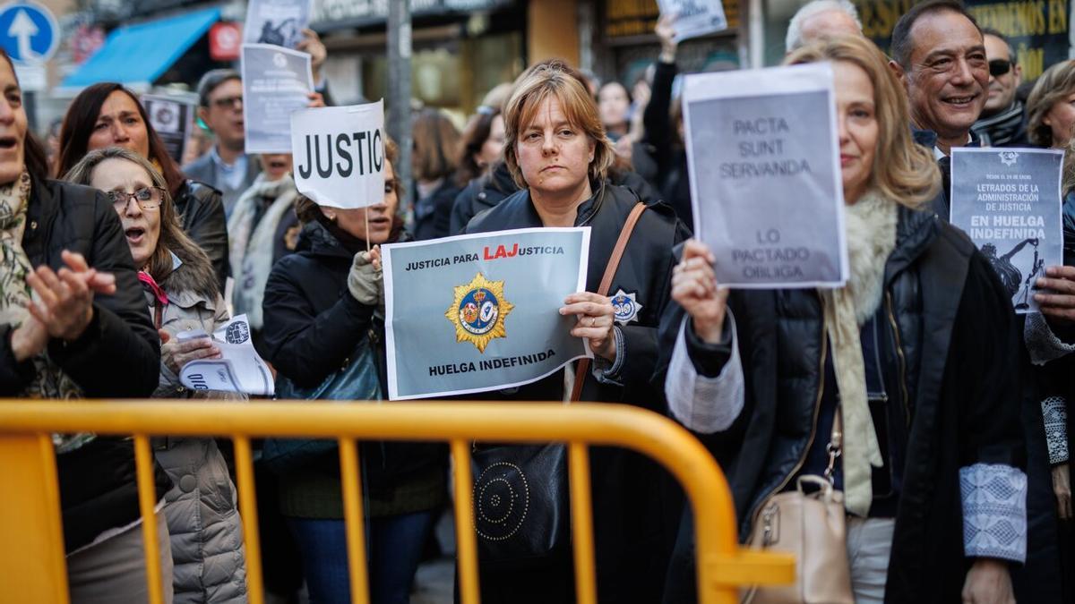
[[[147,397],[160,344],[119,221],[103,195],[46,179],[11,59],[0,58],[0,396]],[[132,442],[54,443],[71,601],[146,602]],[[168,477],[156,478],[160,498]],[[170,599],[168,527],[157,520]]]

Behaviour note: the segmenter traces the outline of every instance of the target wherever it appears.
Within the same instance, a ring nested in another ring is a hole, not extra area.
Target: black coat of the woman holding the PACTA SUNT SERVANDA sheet
[[[966,236],[932,213],[900,211],[885,267],[886,383],[912,421],[885,601],[959,602],[971,560],[963,553],[959,470],[975,463],[1022,469],[1020,336],[1009,298]],[[785,489],[816,432],[827,337],[814,290],[740,290],[734,314],[746,404],[732,427],[701,436],[728,474],[749,535],[760,504]],[[683,311],[661,323],[664,370]],[[690,602],[689,533],[680,533],[665,602]],[[684,543],[686,541],[686,543]]]

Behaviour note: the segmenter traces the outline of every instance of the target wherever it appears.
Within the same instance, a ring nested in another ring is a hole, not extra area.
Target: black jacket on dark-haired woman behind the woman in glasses
[[[231,265],[228,262],[228,219],[220,199],[220,191],[205,183],[184,181],[174,201],[183,231],[209,256],[219,282],[217,285],[224,291]]]

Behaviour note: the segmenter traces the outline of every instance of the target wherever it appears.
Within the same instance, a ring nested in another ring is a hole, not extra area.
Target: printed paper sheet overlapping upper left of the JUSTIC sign
[[[310,55],[270,44],[243,44],[246,153],[290,153],[291,112],[310,104]]]

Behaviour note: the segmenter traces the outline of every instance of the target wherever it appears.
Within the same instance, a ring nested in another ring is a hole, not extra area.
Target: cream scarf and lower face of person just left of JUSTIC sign
[[[231,304],[236,315],[246,315],[254,345],[262,351],[261,299],[273,264],[295,251],[299,243],[299,217],[295,202],[299,189],[291,178],[291,154],[262,154],[261,173],[243,191],[228,219],[231,275],[235,278]]]

